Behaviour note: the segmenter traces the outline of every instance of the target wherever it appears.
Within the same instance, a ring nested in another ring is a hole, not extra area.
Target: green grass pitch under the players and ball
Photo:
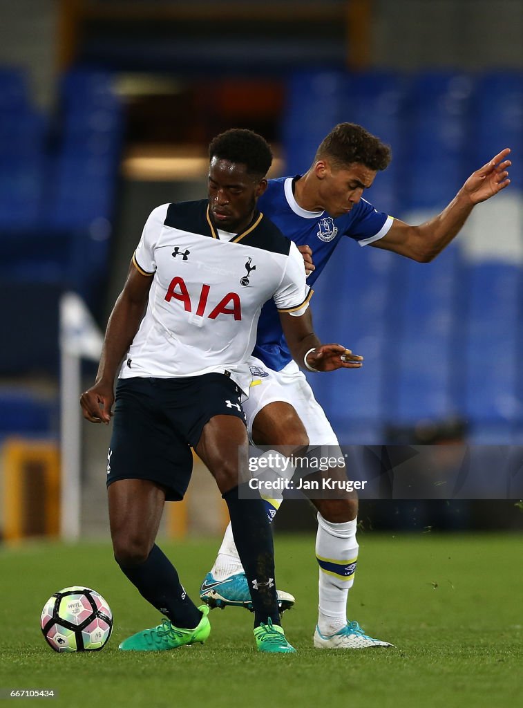
[[[217,545],[217,539],[161,544],[194,599]],[[117,569],[109,544],[4,547],[0,689],[5,695],[12,688],[53,688],[58,697],[47,702],[71,708],[519,705],[521,548],[521,535],[362,533],[350,618],[396,649],[318,651],[311,641],[314,538],[279,535],[278,585],[297,597],[283,624],[298,653],[263,656],[255,651],[253,616],[232,607],[211,612],[212,634],[203,646],[120,652],[125,636],[153,626],[159,615]],[[100,652],[54,653],[40,632],[40,610],[54,591],[82,583],[108,600],[113,636]]]

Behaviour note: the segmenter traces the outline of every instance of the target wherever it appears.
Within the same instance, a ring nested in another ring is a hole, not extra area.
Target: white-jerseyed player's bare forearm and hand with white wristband
[[[290,352],[301,368],[314,371],[360,369],[363,357],[341,344],[322,344],[312,329],[310,307],[301,316],[280,313]]]

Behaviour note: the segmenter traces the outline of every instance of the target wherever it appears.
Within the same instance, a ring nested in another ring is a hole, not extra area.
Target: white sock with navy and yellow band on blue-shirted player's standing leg
[[[358,544],[357,519],[341,524],[318,513],[316,559],[319,570],[318,627],[321,634],[335,634],[347,624],[347,596],[354,583]]]

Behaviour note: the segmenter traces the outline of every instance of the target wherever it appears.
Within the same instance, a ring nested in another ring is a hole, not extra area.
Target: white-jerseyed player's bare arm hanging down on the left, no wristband
[[[110,422],[117,368],[142,321],[151,282],[152,276],[142,275],[131,262],[124,288],[109,317],[96,383],[80,396],[84,418],[91,423]]]

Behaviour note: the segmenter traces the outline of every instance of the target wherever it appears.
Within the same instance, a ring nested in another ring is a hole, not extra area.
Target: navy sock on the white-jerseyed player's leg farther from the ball
[[[261,498],[238,498],[238,492],[241,496],[241,486],[234,487],[222,496],[229,507],[234,543],[251,591],[254,626],[259,627],[261,622],[266,624],[268,617],[274,624],[280,624],[274,549],[265,504]]]

